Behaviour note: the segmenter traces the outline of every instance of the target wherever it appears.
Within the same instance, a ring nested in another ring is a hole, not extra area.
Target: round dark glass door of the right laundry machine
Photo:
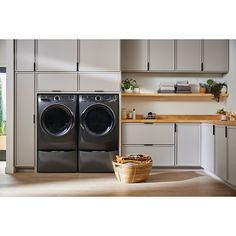
[[[82,124],[92,135],[102,136],[111,132],[114,120],[114,114],[108,107],[96,104],[85,110]]]

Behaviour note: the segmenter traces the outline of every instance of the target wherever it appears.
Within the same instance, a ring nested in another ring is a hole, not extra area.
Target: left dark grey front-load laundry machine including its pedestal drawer
[[[77,171],[76,117],[76,95],[38,95],[38,172]]]

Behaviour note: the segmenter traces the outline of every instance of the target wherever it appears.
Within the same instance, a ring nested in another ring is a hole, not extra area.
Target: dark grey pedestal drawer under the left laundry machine
[[[38,151],[38,172],[76,172],[77,151]]]

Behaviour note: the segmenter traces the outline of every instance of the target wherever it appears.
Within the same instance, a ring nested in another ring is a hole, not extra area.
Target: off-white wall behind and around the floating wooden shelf
[[[156,92],[160,82],[176,82],[188,80],[190,84],[206,82],[209,78],[227,82],[229,98],[224,102],[215,101],[155,101],[149,98],[123,98],[122,107],[136,109],[136,113],[149,111],[158,114],[215,114],[217,109],[225,108],[236,112],[236,40],[230,40],[229,73],[223,77],[217,75],[158,75],[157,73],[124,73],[122,79],[133,78],[141,88],[141,92]]]

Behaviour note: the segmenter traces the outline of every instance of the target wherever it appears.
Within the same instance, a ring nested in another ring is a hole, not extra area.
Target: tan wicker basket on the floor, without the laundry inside
[[[116,178],[123,183],[138,183],[147,180],[151,170],[152,161],[144,164],[127,165],[112,162]]]

